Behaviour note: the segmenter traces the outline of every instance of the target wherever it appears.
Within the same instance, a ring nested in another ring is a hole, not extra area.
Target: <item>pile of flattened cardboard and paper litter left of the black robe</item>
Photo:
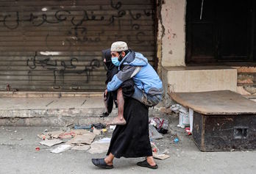
[[[107,128],[101,123],[90,126],[74,126],[74,129],[69,131],[48,131],[45,130],[42,134],[38,134],[40,145],[57,148],[51,150],[51,153],[61,153],[71,150],[88,151],[90,153],[103,153],[107,151],[110,144],[110,138],[100,139],[93,142],[96,136],[107,132]],[[61,145],[60,145],[61,144]]]

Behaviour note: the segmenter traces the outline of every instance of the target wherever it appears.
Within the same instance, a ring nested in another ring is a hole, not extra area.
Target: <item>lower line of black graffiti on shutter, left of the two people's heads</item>
[[[65,74],[68,73],[85,73],[85,83],[90,81],[90,76],[93,75],[93,70],[96,70],[100,67],[100,62],[98,59],[93,59],[90,61],[90,65],[85,65],[85,68],[82,70],[76,70],[77,65],[74,65],[74,62],[79,63],[79,60],[76,57],[71,57],[69,63],[64,60],[57,61],[56,59],[51,59],[51,57],[46,57],[45,59],[39,60],[38,52],[35,52],[35,56],[29,59],[26,59],[26,65],[29,67],[28,75],[29,81],[32,80],[32,70],[35,70],[38,67],[42,67],[46,70],[52,70],[54,76],[54,84],[57,82],[57,74],[60,74],[60,80],[64,83]]]

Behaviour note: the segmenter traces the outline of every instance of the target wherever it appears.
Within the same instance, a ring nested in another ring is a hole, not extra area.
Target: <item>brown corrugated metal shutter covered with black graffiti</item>
[[[0,90],[105,88],[116,40],[154,65],[152,0],[0,0]]]

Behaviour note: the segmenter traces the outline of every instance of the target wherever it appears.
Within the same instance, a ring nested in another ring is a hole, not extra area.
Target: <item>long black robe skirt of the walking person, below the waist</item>
[[[149,108],[133,98],[124,102],[124,119],[127,124],[116,126],[107,155],[115,158],[152,156],[149,141]]]

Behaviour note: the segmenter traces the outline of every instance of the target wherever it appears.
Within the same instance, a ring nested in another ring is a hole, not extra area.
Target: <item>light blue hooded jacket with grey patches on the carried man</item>
[[[127,79],[134,81],[136,87],[149,95],[163,94],[163,84],[157,72],[143,54],[129,51],[121,60],[118,73],[107,84],[107,91],[117,90]]]

